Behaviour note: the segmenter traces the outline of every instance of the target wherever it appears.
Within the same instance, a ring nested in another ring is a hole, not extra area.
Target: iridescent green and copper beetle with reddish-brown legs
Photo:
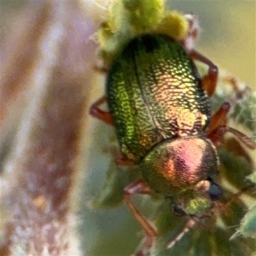
[[[209,65],[201,78],[192,59]],[[196,51],[186,52],[166,35],[141,35],[116,56],[108,71],[106,96],[90,113],[113,124],[124,158],[117,164],[140,166],[143,180],[125,188],[125,200],[152,246],[156,230],[131,202],[134,193],[151,191],[171,199],[173,211],[191,216],[182,234],[196,218],[206,216],[221,195],[211,176],[218,173],[216,147],[223,134],[235,134],[248,147],[255,144],[224,124],[230,104],[211,116],[209,96],[214,92],[218,68]],[[99,105],[108,102],[109,112]],[[141,249],[141,255],[144,248]]]

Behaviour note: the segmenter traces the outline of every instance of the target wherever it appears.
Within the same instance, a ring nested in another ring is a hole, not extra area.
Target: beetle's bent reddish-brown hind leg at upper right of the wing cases
[[[207,59],[205,56],[195,50],[192,50],[190,52],[190,56],[191,58],[205,63],[209,66],[208,74],[204,76],[204,78],[202,79],[202,83],[204,86],[204,90],[207,92],[207,95],[211,97],[217,85],[218,67],[214,65],[211,60]]]

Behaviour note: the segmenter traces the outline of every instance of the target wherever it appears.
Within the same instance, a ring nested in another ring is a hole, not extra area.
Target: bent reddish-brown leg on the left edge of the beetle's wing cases
[[[102,120],[107,124],[113,125],[110,113],[108,111],[103,111],[99,108],[99,106],[106,102],[106,100],[107,97],[106,95],[104,95],[99,100],[95,101],[90,107],[90,115],[92,115],[95,118],[98,118],[99,120]]]

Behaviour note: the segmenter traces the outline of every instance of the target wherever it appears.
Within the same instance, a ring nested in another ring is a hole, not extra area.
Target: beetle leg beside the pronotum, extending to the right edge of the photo
[[[244,145],[246,145],[246,147],[250,149],[256,149],[256,143],[254,143],[248,136],[243,134],[243,132],[239,132],[236,129],[226,125],[218,126],[216,129],[214,129],[214,131],[207,135],[207,138],[209,138],[215,145],[218,145],[223,141],[223,137],[226,132],[231,132],[234,134],[236,138],[238,138],[241,142],[244,143]]]

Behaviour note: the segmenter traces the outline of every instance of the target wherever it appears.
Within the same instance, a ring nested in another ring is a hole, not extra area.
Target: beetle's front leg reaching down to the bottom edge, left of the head
[[[150,195],[151,190],[148,185],[142,180],[137,180],[129,186],[125,187],[125,201],[131,210],[136,220],[140,223],[146,233],[145,243],[141,246],[136,255],[144,255],[145,250],[150,248],[154,242],[154,238],[157,236],[156,229],[148,222],[148,220],[138,211],[138,209],[132,204],[131,197],[134,194]]]

